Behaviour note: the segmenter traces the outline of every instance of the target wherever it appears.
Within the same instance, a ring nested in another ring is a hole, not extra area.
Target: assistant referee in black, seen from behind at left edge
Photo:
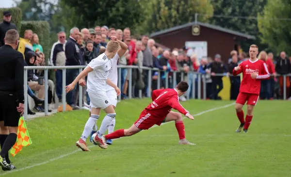
[[[24,111],[23,55],[16,49],[19,42],[17,30],[6,32],[0,47],[0,164],[2,170],[16,168],[11,164],[8,151],[16,143],[20,115]]]

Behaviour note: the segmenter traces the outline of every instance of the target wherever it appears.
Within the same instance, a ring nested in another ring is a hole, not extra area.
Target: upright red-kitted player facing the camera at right
[[[240,93],[236,100],[235,109],[241,125],[236,132],[247,133],[253,118],[253,109],[259,100],[260,81],[269,79],[270,74],[264,61],[257,59],[258,46],[250,46],[250,59],[243,61],[239,66],[233,69],[233,75],[242,73],[242,83]],[[247,113],[244,121],[242,106],[247,102]]]

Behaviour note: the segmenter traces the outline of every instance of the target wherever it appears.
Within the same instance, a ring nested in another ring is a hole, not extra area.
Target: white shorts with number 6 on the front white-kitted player
[[[97,93],[88,92],[88,95],[90,97],[90,108],[94,107],[94,108],[105,109],[111,104],[105,91],[97,92]]]

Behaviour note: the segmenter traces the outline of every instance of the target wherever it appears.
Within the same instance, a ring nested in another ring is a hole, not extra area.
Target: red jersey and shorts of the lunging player
[[[134,125],[141,129],[147,130],[153,125],[161,125],[172,108],[178,110],[180,113],[189,114],[179,103],[178,92],[174,88],[157,89],[152,93],[152,103],[140,114],[140,118]]]

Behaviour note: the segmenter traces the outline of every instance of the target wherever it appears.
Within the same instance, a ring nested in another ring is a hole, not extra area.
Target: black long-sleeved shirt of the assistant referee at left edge
[[[10,45],[0,47],[0,91],[18,95],[19,103],[24,103],[23,55]]]

